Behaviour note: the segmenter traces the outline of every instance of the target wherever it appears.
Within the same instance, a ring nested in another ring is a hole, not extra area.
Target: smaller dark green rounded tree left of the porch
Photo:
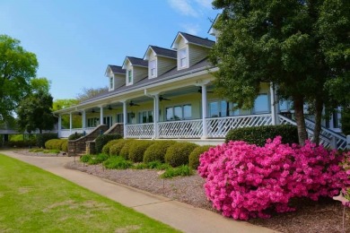
[[[40,134],[43,130],[51,130],[56,122],[51,111],[52,99],[49,93],[42,90],[23,99],[17,108],[20,130],[31,133],[39,129]]]

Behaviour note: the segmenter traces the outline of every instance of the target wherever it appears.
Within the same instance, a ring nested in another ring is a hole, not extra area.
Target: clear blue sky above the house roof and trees
[[[218,13],[211,0],[1,0],[0,34],[37,55],[38,77],[54,99],[107,86],[107,65],[143,57],[148,45],[171,47],[178,31],[207,34]]]

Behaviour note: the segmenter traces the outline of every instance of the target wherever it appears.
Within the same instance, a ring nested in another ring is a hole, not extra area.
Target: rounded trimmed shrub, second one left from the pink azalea
[[[189,154],[197,147],[197,144],[191,142],[175,142],[165,153],[165,162],[174,168],[187,165]]]

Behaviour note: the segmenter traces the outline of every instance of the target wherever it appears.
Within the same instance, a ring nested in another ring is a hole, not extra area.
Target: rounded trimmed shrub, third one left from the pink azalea
[[[152,162],[152,161],[161,161],[164,162],[165,153],[168,148],[174,144],[175,141],[167,140],[167,141],[156,141],[144,151],[144,163]]]

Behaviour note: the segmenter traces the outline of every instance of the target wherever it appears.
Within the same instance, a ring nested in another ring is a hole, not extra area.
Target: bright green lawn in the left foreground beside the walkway
[[[40,168],[0,154],[0,232],[178,232]]]

